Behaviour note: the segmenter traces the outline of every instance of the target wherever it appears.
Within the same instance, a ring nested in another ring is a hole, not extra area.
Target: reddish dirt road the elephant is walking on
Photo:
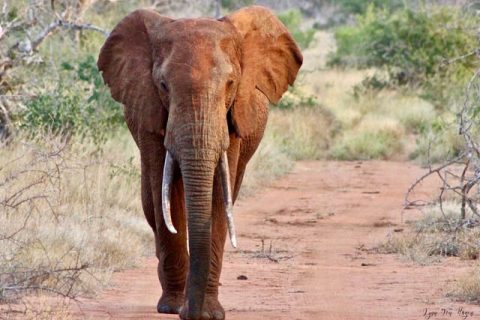
[[[421,174],[395,162],[300,162],[259,195],[236,204],[239,250],[228,249],[221,297],[229,320],[462,319],[445,293],[469,265],[419,266],[369,253],[394,228],[408,185]],[[404,219],[413,217],[407,211]],[[118,273],[113,287],[85,300],[81,318],[177,319],[156,313],[155,259]],[[246,280],[240,280],[245,278]],[[442,316],[441,309],[452,312]]]

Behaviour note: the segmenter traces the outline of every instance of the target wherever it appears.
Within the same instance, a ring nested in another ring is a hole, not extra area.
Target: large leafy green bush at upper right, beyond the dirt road
[[[386,72],[388,83],[372,78],[372,87],[420,88],[423,97],[439,106],[478,67],[473,54],[455,59],[476,50],[477,24],[477,17],[455,7],[391,12],[370,5],[356,25],[336,30],[337,50],[328,63],[378,68]]]

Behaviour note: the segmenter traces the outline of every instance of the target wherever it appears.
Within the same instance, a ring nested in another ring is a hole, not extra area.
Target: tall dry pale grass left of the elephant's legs
[[[93,293],[150,247],[138,154],[127,133],[100,154],[58,139],[0,154],[0,299]]]

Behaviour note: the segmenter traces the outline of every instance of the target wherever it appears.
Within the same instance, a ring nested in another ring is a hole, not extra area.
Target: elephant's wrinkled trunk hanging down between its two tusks
[[[200,319],[210,273],[213,177],[218,156],[210,150],[195,150],[180,163],[188,212],[188,310]],[[185,156],[185,155],[184,155]]]

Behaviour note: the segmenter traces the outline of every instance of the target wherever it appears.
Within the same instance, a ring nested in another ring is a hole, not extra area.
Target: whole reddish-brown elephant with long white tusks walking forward
[[[97,65],[140,152],[141,200],[155,237],[159,313],[224,319],[218,286],[232,207],[264,134],[269,103],[302,53],[267,8],[223,18],[123,18]]]

